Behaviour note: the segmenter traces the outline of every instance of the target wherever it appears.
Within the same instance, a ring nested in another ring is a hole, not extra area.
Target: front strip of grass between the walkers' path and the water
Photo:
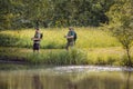
[[[132,51],[133,53],[133,51]],[[39,53],[25,48],[0,48],[0,60],[19,61],[33,65],[102,65],[126,66],[126,58],[121,48],[45,49]],[[133,61],[133,60],[132,60]]]

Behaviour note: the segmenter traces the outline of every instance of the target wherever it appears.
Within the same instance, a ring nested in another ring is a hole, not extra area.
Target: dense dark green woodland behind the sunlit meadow
[[[0,29],[88,27],[109,21],[113,0],[0,0]]]

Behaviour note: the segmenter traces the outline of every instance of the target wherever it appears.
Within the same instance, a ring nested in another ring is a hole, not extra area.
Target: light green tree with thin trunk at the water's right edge
[[[127,66],[133,66],[131,47],[133,43],[133,0],[115,0],[108,12],[109,29],[126,51]]]

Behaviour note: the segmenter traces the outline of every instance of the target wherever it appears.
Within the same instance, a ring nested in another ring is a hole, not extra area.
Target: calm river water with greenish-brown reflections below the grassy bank
[[[133,68],[64,66],[1,69],[0,89],[133,89]]]

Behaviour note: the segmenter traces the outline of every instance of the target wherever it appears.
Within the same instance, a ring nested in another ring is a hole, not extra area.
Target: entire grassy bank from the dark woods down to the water
[[[68,28],[41,29],[43,39],[40,53],[32,52],[34,30],[0,32],[0,60],[44,65],[110,65],[124,66],[126,57],[115,38],[100,28],[75,28],[74,49],[65,51],[63,36]]]

